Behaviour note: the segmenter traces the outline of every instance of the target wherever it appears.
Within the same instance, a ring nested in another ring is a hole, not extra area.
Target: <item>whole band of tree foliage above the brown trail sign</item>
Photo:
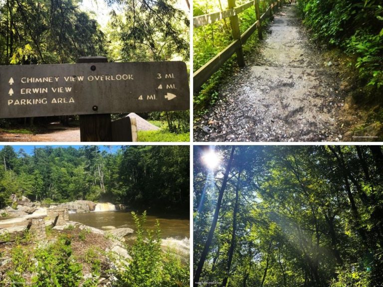
[[[92,1],[97,6],[97,0]],[[78,0],[1,0],[0,64],[189,59],[189,18],[173,0],[105,0],[105,27]]]

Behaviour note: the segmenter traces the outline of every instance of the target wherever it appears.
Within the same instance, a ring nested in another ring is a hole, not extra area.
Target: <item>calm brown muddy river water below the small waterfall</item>
[[[77,221],[84,225],[106,230],[105,226],[129,227],[136,230],[132,214],[124,211],[102,211],[88,213],[69,214],[69,220]],[[174,238],[182,240],[185,237],[190,238],[190,220],[179,219],[176,217],[166,217],[162,215],[147,215],[147,221],[144,229],[154,229],[156,220],[160,222],[161,237]],[[134,234],[133,234],[134,236]]]

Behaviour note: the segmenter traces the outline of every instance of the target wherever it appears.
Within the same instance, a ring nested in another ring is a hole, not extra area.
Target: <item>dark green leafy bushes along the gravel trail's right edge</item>
[[[360,78],[380,94],[383,87],[381,1],[301,0],[298,5],[314,38],[355,55]]]

